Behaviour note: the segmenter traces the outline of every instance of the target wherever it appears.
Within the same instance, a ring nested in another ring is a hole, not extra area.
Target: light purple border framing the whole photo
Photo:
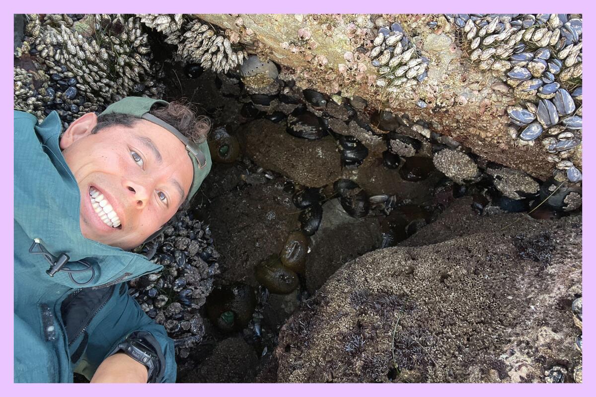
[[[3,54],[5,62],[0,64],[0,70],[4,79],[0,80],[0,98],[2,106],[0,107],[1,114],[4,114],[4,120],[12,120],[11,108],[13,104],[13,13],[46,13],[46,12],[69,12],[69,13],[97,13],[97,12],[122,12],[122,13],[139,13],[139,12],[162,12],[162,13],[204,13],[204,12],[234,12],[234,13],[380,13],[393,12],[402,14],[418,14],[418,13],[442,13],[442,12],[520,12],[520,13],[535,13],[535,12],[566,12],[583,14],[583,62],[586,64],[586,72],[583,78],[583,85],[586,87],[594,86],[594,77],[590,70],[594,69],[594,12],[593,6],[587,4],[586,0],[491,0],[488,1],[457,1],[448,2],[445,0],[366,0],[360,1],[356,4],[355,0],[278,0],[272,2],[271,0],[225,0],[225,1],[206,1],[193,0],[187,2],[150,2],[138,0],[103,0],[88,1],[78,0],[26,0],[16,2],[14,0],[7,0],[2,8],[5,9],[4,21],[0,24],[0,32],[3,37],[0,40],[0,54]],[[592,37],[592,38],[590,38]],[[10,58],[9,58],[10,57]],[[591,110],[593,109],[591,91],[586,90],[586,114],[583,115],[583,123],[586,128],[583,129],[586,133],[583,134],[584,147],[584,161],[583,161],[583,175],[585,177],[585,185],[583,186],[583,206],[584,211],[584,235],[586,236],[585,248],[583,257],[584,286],[592,286],[594,283],[594,270],[592,268],[593,262],[588,260],[596,253],[594,246],[589,242],[594,236],[596,223],[595,208],[591,204],[594,199],[594,164],[596,161],[592,157],[596,154],[594,149],[594,136],[596,132],[592,131],[595,124],[592,118]],[[10,125],[13,124],[11,121]],[[2,164],[2,182],[5,189],[4,194],[1,195],[0,204],[5,208],[6,212],[3,218],[10,219],[13,217],[13,134],[7,128],[4,132],[7,142],[2,145],[2,157],[0,162]],[[586,152],[586,148],[588,151]],[[11,194],[9,195],[8,192]],[[2,302],[13,302],[13,271],[11,264],[13,263],[13,230],[3,230],[0,245],[2,253],[4,254],[4,271],[2,279],[4,285],[0,289],[0,296]],[[10,268],[7,268],[10,267]],[[236,396],[244,395],[275,395],[280,396],[283,393],[285,396],[300,396],[305,395],[328,395],[330,393],[344,396],[358,396],[362,397],[373,393],[377,395],[396,395],[396,393],[416,393],[416,395],[455,395],[458,396],[474,396],[479,394],[482,397],[505,397],[509,395],[539,395],[539,396],[557,396],[557,397],[575,397],[577,395],[588,394],[589,390],[594,384],[593,361],[594,357],[594,342],[592,339],[592,314],[594,311],[594,302],[592,299],[591,289],[585,290],[583,301],[585,302],[586,315],[586,331],[583,333],[583,339],[586,340],[586,345],[583,350],[584,363],[586,370],[585,377],[583,377],[583,385],[259,385],[259,384],[243,384],[243,385],[14,385],[13,384],[13,319],[10,316],[12,305],[0,305],[2,310],[2,317],[4,319],[4,326],[0,327],[0,335],[4,339],[2,348],[2,362],[1,362],[1,379],[2,383],[7,385],[4,389],[5,395],[21,396],[47,396],[47,395],[64,395],[64,393],[84,393],[85,396],[102,396],[105,397],[106,392],[129,392],[134,393],[167,393],[171,388],[176,388],[175,392],[188,393],[187,395],[204,395],[206,393],[224,393],[225,395],[234,393]],[[587,358],[587,360],[586,360]],[[146,388],[145,388],[146,387]],[[166,389],[167,388],[167,389]],[[184,390],[182,390],[184,389]],[[18,394],[17,394],[18,393]],[[192,393],[192,394],[191,394]],[[591,395],[594,392],[590,393]]]

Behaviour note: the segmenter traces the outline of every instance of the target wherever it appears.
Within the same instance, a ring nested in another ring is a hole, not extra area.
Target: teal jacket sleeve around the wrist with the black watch
[[[128,294],[128,285],[122,283],[116,287],[113,296],[103,310],[103,318],[98,319],[94,327],[88,329],[89,340],[86,348],[86,361],[93,373],[117,346],[128,337],[139,337],[146,346],[151,346],[159,358],[159,372],[156,383],[176,381],[176,361],[174,342],[167,336],[163,326],[142,311],[141,306]]]

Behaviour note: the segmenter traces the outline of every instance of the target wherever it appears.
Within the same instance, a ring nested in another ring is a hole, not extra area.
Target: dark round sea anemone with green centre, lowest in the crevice
[[[225,332],[240,331],[246,327],[255,306],[254,290],[243,284],[215,287],[205,304],[209,320]]]

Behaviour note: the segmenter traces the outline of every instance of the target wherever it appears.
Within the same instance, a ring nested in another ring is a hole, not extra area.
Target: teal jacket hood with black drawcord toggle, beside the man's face
[[[70,268],[80,268],[71,263],[79,260],[91,264],[95,276],[86,287],[123,282],[160,270],[161,265],[142,255],[86,239],[81,234],[80,192],[60,151],[62,128],[57,112],[51,112],[41,124],[37,124],[35,116],[24,112],[15,111],[14,119],[31,125],[30,133],[21,131],[14,137],[14,220],[29,236],[29,244],[40,239],[55,257],[61,253],[69,255]],[[83,281],[89,277],[91,271],[75,276]],[[64,271],[58,271],[54,281],[78,287]]]

